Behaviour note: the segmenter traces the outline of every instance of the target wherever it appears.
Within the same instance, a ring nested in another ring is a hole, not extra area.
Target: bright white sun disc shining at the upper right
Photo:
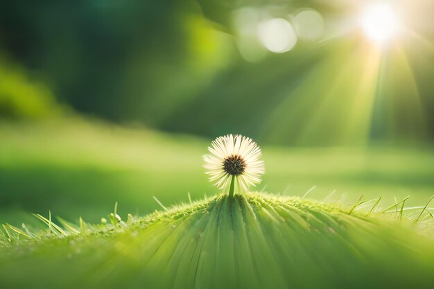
[[[390,6],[376,3],[365,10],[361,17],[361,25],[367,37],[383,43],[396,35],[398,19]]]

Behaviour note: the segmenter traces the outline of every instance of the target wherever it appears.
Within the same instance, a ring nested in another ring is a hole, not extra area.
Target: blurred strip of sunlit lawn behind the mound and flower
[[[119,202],[119,214],[144,215],[218,193],[205,176],[210,139],[55,119],[0,123],[0,222],[35,225],[29,213],[97,222]],[[261,145],[261,143],[260,143]],[[339,203],[382,197],[380,207],[434,191],[430,147],[282,148],[262,146],[266,175],[258,190]]]

